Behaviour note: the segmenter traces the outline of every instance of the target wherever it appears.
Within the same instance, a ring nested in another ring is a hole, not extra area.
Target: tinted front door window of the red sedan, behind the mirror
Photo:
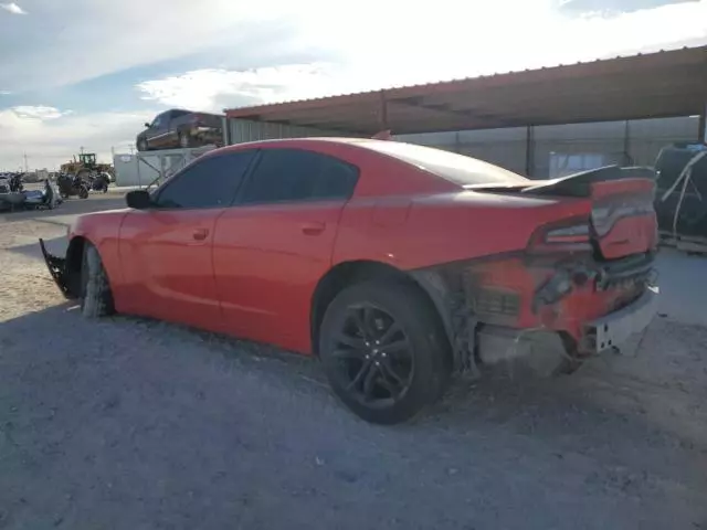
[[[197,160],[159,190],[156,198],[157,208],[229,206],[255,152],[229,152]]]

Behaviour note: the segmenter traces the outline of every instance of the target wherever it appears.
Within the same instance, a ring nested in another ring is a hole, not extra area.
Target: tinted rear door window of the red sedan
[[[342,160],[304,149],[263,149],[242,203],[348,199],[358,169]]]

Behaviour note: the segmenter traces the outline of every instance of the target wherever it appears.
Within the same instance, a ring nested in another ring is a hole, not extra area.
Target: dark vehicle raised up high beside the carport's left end
[[[155,117],[137,135],[138,151],[180,147],[223,146],[222,116],[173,108]]]

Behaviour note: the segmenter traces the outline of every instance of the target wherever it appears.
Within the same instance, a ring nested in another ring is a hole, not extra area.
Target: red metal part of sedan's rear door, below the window
[[[344,201],[232,208],[217,223],[214,272],[230,332],[310,351],[309,310]]]

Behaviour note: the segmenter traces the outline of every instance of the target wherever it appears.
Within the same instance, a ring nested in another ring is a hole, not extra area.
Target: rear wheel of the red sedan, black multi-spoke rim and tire
[[[440,318],[414,285],[366,282],[326,310],[319,358],[338,399],[362,420],[393,425],[437,401],[451,375]]]

